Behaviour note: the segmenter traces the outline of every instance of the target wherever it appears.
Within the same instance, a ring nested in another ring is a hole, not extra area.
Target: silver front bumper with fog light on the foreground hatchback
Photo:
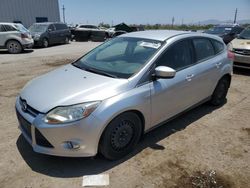
[[[73,123],[49,125],[43,122],[44,114],[38,113],[34,117],[34,114],[24,112],[19,101],[17,98],[19,128],[35,152],[64,157],[97,154],[103,125],[99,119],[90,115]]]

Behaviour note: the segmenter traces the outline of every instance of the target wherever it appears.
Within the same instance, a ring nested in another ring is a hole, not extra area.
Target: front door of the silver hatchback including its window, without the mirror
[[[171,45],[157,60],[157,66],[175,69],[172,79],[157,79],[151,82],[151,125],[189,108],[196,101],[197,82],[194,65],[194,48],[191,40],[182,40]]]

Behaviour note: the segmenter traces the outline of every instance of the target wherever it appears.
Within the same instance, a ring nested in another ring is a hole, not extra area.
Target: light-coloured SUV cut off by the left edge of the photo
[[[17,54],[23,49],[31,48],[33,44],[30,32],[22,24],[0,23],[0,48]]]

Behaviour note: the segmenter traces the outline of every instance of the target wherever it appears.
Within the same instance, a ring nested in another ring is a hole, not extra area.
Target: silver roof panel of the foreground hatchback
[[[134,38],[146,38],[158,41],[165,41],[171,37],[177,35],[189,34],[188,31],[176,31],[176,30],[149,30],[149,31],[136,31],[127,33],[119,37],[134,37]]]

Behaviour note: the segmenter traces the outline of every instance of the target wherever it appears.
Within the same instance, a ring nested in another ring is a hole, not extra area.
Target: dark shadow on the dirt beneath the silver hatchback
[[[158,144],[160,140],[165,139],[178,131],[184,130],[187,126],[203,116],[212,113],[212,111],[217,108],[208,104],[203,104],[150,131],[143,136],[141,142],[132,153],[118,161],[108,161],[100,155],[89,158],[68,158],[38,154],[33,152],[31,146],[26,142],[22,135],[17,139],[16,145],[24,161],[35,172],[51,177],[63,178],[100,174],[129,160],[145,148],[150,147],[154,150],[166,149],[164,146]]]

